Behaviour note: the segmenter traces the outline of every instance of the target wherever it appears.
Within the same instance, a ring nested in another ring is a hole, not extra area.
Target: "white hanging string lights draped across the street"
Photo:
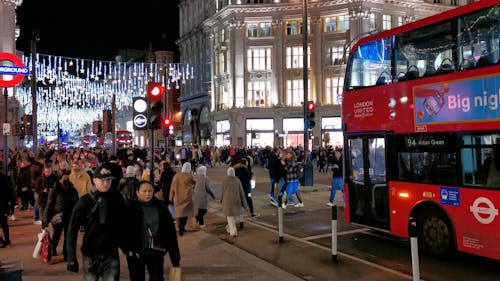
[[[32,65],[31,56],[23,56],[22,60]],[[37,54],[35,72],[38,130],[55,133],[58,128],[76,132],[100,119],[103,110],[112,108],[113,95],[117,111],[129,110],[133,97],[145,96],[150,79],[178,87],[179,82],[192,78],[193,68],[178,63],[111,62]],[[28,76],[16,91],[25,114],[32,110],[29,80]]]

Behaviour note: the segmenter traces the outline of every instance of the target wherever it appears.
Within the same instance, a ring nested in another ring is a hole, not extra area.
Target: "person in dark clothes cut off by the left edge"
[[[11,215],[10,206],[14,203],[11,181],[4,173],[0,172],[0,226],[3,231],[3,239],[0,238],[3,240],[0,241],[0,248],[8,247],[11,244],[7,217]]]

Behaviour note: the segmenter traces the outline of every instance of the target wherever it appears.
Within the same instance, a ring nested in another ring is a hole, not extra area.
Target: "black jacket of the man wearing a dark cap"
[[[100,200],[107,202],[106,222],[104,224],[99,221]],[[118,247],[123,245],[124,211],[123,196],[117,191],[109,190],[105,193],[93,191],[80,197],[73,208],[68,229],[66,240],[68,261],[76,260],[76,242],[80,226],[85,229],[81,247],[82,254],[86,256],[118,255]]]

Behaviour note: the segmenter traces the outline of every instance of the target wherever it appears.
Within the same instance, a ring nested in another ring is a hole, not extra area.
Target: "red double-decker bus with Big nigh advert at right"
[[[342,97],[345,217],[435,256],[500,260],[500,6],[359,40]]]

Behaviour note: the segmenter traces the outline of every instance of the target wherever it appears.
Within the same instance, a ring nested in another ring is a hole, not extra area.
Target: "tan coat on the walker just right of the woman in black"
[[[170,187],[170,201],[174,202],[175,217],[194,215],[193,193],[195,181],[190,173],[176,173]]]

